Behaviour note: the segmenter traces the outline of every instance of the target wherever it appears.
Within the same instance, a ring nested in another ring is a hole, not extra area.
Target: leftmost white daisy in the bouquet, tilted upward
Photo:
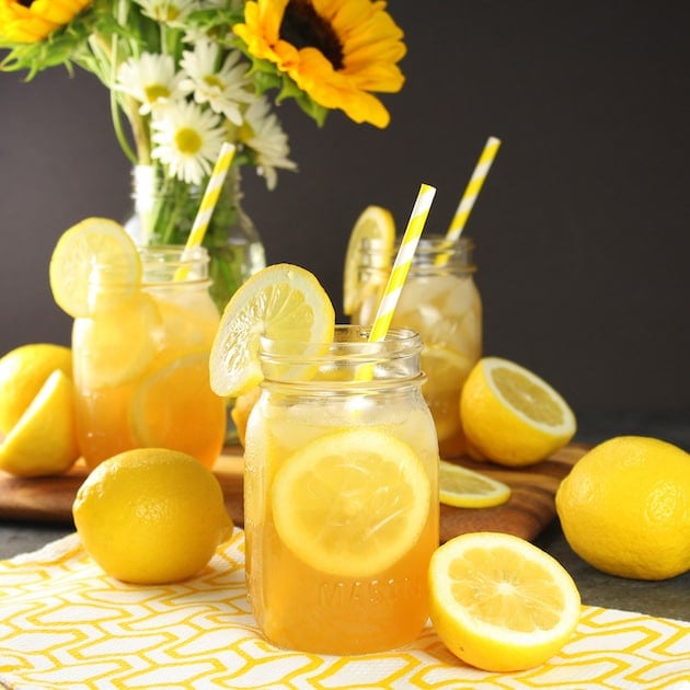
[[[182,72],[175,72],[172,56],[143,53],[119,66],[115,89],[141,103],[139,113],[148,115],[154,107],[181,95],[181,79]]]

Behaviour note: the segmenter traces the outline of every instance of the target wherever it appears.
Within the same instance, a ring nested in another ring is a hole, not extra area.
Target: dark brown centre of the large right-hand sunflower
[[[289,0],[280,24],[280,38],[296,48],[318,48],[333,65],[343,69],[343,46],[333,26],[314,10],[310,0]]]

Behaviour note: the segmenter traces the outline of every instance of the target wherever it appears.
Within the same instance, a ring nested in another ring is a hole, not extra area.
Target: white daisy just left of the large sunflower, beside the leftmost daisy
[[[218,45],[210,41],[202,41],[194,50],[185,50],[180,65],[186,74],[180,88],[185,93],[194,93],[197,103],[208,103],[216,113],[241,125],[239,104],[250,103],[254,97],[245,77],[248,65],[240,62],[242,56],[238,50],[232,50],[217,69],[218,51]]]

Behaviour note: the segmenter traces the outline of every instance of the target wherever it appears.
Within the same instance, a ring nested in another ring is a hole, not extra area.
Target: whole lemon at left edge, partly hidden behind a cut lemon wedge
[[[72,378],[72,350],[69,347],[30,343],[0,358],[0,435],[10,433],[56,369]]]

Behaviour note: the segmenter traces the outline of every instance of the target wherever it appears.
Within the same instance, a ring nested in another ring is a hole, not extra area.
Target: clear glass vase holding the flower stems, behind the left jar
[[[156,165],[136,165],[134,209],[125,229],[139,246],[184,244],[203,193],[198,185],[164,177]],[[204,237],[210,256],[210,295],[220,312],[235,290],[266,265],[264,245],[242,208],[242,197],[241,174],[232,166]]]

